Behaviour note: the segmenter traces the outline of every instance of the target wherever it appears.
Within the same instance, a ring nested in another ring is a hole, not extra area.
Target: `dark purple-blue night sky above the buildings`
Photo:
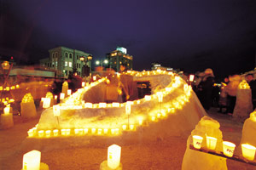
[[[152,62],[216,75],[250,71],[255,0],[0,0],[0,52],[37,62],[57,46],[101,59],[117,46]]]

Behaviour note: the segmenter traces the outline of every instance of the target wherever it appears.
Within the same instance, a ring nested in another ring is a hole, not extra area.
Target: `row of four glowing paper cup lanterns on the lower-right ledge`
[[[193,146],[196,149],[201,149],[201,144],[203,141],[203,137],[198,135],[193,135]],[[207,149],[215,150],[217,144],[217,139],[214,137],[207,136]],[[228,141],[223,142],[223,153],[224,156],[232,157],[234,154],[234,150],[236,148],[236,144],[233,144]],[[254,160],[256,147],[251,144],[241,144],[241,152],[242,156],[249,161]]]

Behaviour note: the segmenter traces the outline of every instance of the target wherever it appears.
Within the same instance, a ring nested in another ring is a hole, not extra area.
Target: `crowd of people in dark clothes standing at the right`
[[[195,74],[195,81],[191,84],[201,105],[208,111],[212,105],[219,108],[220,113],[233,114],[236,106],[236,94],[240,82],[245,79],[252,91],[253,110],[256,108],[256,80],[253,74],[231,75],[223,82],[217,83],[212,69]]]

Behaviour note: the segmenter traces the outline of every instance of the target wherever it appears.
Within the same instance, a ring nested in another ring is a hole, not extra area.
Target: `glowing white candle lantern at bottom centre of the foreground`
[[[108,167],[116,169],[119,167],[121,157],[121,147],[117,144],[112,144],[108,147]]]

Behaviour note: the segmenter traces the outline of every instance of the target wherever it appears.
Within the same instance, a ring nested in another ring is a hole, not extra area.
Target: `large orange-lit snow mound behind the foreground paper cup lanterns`
[[[187,150],[183,156],[183,170],[215,170],[227,169],[226,158],[213,156],[201,151],[189,149],[189,145],[193,144],[192,136],[198,135],[203,137],[201,146],[207,148],[207,136],[212,136],[217,139],[217,146],[215,151],[220,153],[222,151],[222,132],[219,130],[219,123],[211,117],[203,116],[201,121],[195,126],[187,140]]]

